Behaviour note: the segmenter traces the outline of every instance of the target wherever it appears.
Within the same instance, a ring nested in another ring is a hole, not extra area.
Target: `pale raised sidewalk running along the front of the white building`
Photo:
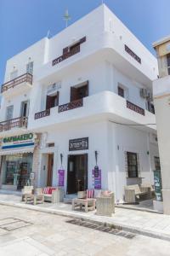
[[[170,216],[142,212],[116,207],[116,213],[112,217],[97,216],[95,212],[72,211],[71,205],[65,203],[43,205],[26,205],[20,201],[20,195],[0,194],[0,205],[26,208],[39,212],[53,213],[71,218],[82,218],[99,224],[114,225],[122,230],[138,233],[170,241]]]

